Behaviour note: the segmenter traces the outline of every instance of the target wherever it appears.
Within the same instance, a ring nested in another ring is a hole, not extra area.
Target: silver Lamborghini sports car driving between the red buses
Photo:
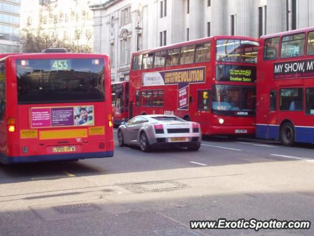
[[[198,123],[176,116],[137,116],[118,128],[120,147],[134,145],[145,152],[152,148],[171,147],[198,150],[201,147],[201,139],[201,127]]]

